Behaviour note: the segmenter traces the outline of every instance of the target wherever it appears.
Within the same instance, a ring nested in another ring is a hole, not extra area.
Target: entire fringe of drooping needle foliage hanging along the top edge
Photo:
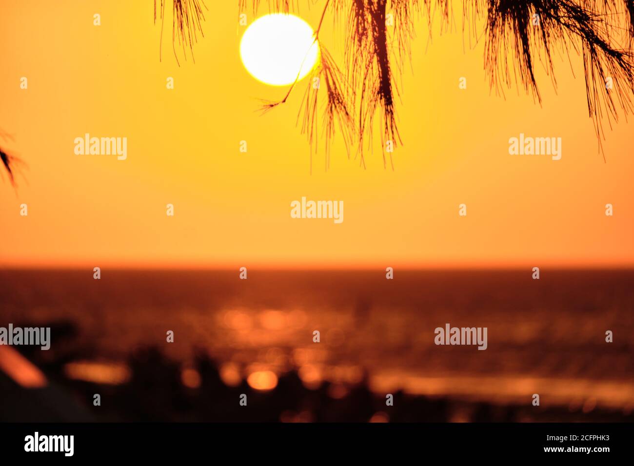
[[[163,20],[165,2],[160,0]],[[197,31],[202,34],[204,3],[172,3],[172,42],[193,49]],[[157,0],[155,10],[156,4]],[[307,81],[298,123],[301,121],[314,150],[320,126],[327,148],[338,129],[346,147],[350,150],[356,146],[361,164],[365,164],[364,145],[371,144],[377,117],[382,141],[401,143],[396,77],[410,58],[415,19],[422,16],[430,34],[434,18],[441,22],[441,30],[449,29],[453,19],[450,0],[238,0],[238,10],[256,15],[264,8],[266,13],[296,13],[300,4],[323,8],[315,32],[321,62],[312,76],[319,77],[323,86],[313,89],[313,79]],[[386,23],[388,14],[393,27]],[[320,37],[321,23],[327,15],[343,23],[346,30],[344,63],[340,66],[328,52],[332,44]],[[484,30],[478,30],[481,24]],[[462,29],[472,46],[484,38],[484,71],[491,88],[499,94],[504,94],[505,88],[519,86],[541,102],[535,67],[545,67],[556,86],[553,55],[568,55],[571,51],[581,55],[588,113],[599,147],[604,138],[603,122],[607,120],[611,126],[612,120],[618,120],[619,109],[624,115],[633,110],[634,0],[462,0]],[[612,87],[606,86],[608,78]],[[289,87],[283,99],[266,102],[263,110],[285,103],[296,84]],[[325,105],[318,98],[320,89],[325,89]],[[385,155],[384,162],[387,164]]]

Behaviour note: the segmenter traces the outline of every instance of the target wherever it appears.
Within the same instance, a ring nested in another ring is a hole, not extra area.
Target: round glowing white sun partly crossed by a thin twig
[[[257,18],[245,30],[240,58],[247,71],[271,86],[286,86],[305,77],[319,60],[313,28],[294,15]],[[298,73],[299,72],[299,77]]]

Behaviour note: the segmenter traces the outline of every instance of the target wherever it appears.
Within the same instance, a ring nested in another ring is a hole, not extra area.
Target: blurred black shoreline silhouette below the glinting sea
[[[365,379],[335,399],[330,382],[307,389],[297,371],[281,375],[271,391],[254,390],[244,380],[229,387],[204,354],[195,361],[200,385],[190,388],[181,383],[180,365],[155,347],[135,351],[127,362],[132,377],[120,385],[65,379],[61,361],[42,367],[49,377],[42,389],[19,387],[0,373],[0,422],[634,422],[634,414],[616,410],[500,406],[402,391],[386,406]],[[100,394],[100,406],[93,406],[94,394]],[[247,406],[240,406],[241,394],[247,395]],[[463,415],[456,418],[456,413]]]

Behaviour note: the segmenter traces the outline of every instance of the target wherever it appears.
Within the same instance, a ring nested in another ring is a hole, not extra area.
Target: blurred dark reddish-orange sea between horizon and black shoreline
[[[103,269],[94,280],[91,269],[1,270],[0,327],[53,325],[51,351],[38,355],[51,360],[117,363],[156,347],[183,366],[204,353],[229,379],[297,371],[307,389],[363,379],[379,394],[507,405],[538,393],[552,406],[628,414],[633,285],[634,271],[606,270],[544,269],[540,280],[526,270],[397,269],[394,280],[380,269],[249,269],[247,280],[238,271]],[[434,344],[446,323],[487,327],[488,348]]]

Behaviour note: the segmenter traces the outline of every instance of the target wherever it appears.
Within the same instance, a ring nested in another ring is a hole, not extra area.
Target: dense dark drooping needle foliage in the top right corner
[[[599,145],[602,121],[611,125],[618,120],[619,107],[625,115],[631,112],[633,0],[475,0],[479,2],[488,6],[484,67],[496,90],[501,84],[512,86],[515,79],[541,101],[536,63],[545,64],[556,84],[552,55],[572,49],[583,58],[588,113]],[[608,78],[612,89],[606,86]]]

